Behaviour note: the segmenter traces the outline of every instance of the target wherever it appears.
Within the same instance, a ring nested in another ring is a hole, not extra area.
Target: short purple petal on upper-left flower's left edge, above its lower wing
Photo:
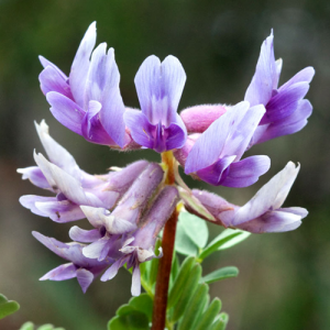
[[[74,99],[67,79],[52,66],[47,66],[38,76],[41,89],[44,95],[48,91],[57,91],[69,99]]]

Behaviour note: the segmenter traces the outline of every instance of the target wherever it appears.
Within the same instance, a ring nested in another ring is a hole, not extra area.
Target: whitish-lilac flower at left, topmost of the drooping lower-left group
[[[81,170],[74,157],[48,134],[44,121],[35,124],[41,142],[51,160],[34,155],[38,166],[18,169],[23,179],[55,193],[56,197],[22,196],[20,202],[32,212],[56,222],[85,218],[80,205],[111,208],[147,165],[136,162],[119,173],[103,176]]]

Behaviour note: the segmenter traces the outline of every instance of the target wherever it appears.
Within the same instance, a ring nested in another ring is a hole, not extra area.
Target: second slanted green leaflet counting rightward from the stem
[[[185,312],[190,298],[196,292],[198,282],[201,275],[201,266],[196,264],[188,276],[188,279],[184,284],[183,294],[179,296],[177,304],[174,306],[173,315],[170,321],[176,322]]]

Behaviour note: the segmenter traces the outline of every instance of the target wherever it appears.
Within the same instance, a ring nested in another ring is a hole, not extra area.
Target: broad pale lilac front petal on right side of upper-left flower
[[[92,53],[87,85],[85,108],[90,100],[102,105],[100,120],[106,132],[121,147],[125,144],[125,125],[123,114],[125,111],[120,90],[120,75],[114,61],[113,48],[108,54],[107,44],[100,44]],[[116,144],[112,142],[112,144]]]

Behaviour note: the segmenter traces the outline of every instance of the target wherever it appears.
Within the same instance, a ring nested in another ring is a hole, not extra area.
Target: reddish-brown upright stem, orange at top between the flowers
[[[174,164],[175,158],[172,152],[162,154],[162,161],[166,164],[167,172],[165,184],[173,185],[175,180]],[[166,322],[166,307],[168,295],[168,283],[172,268],[172,257],[174,251],[176,222],[178,212],[175,209],[169,219],[167,220],[164,233],[163,233],[163,257],[160,260],[155,297],[154,297],[154,310],[153,310],[153,326],[152,330],[164,330]]]

